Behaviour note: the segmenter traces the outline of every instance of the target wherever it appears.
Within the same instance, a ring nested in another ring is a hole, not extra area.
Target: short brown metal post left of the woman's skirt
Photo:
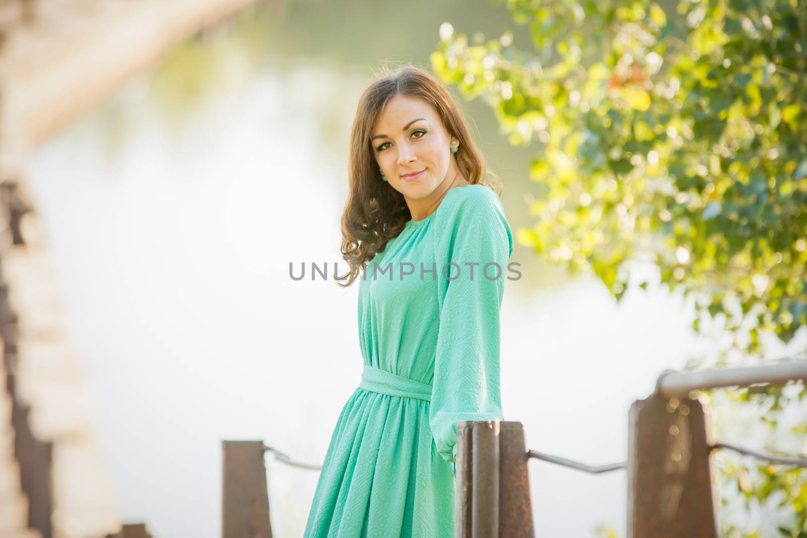
[[[222,537],[272,538],[263,441],[222,445]]]

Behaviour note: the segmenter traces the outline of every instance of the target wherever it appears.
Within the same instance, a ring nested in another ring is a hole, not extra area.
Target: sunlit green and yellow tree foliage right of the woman
[[[763,333],[790,341],[807,325],[805,2],[506,3],[533,50],[511,32],[469,43],[446,23],[431,60],[491,106],[510,143],[537,143],[521,242],[593,271],[617,301],[631,264],[653,262],[695,299],[693,329],[721,319],[748,356],[762,355]],[[771,420],[780,397],[738,395],[763,398]],[[797,519],[782,536],[807,536],[805,473],[766,469],[758,497],[790,481]]]

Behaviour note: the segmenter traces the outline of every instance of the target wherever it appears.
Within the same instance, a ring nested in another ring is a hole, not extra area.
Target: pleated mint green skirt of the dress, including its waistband
[[[429,396],[429,385],[365,365],[328,444],[304,538],[454,536],[454,466],[437,453]]]

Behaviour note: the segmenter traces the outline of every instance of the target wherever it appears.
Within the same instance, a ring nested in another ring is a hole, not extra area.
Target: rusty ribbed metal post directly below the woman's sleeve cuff
[[[458,422],[455,536],[534,536],[528,460],[521,423]]]

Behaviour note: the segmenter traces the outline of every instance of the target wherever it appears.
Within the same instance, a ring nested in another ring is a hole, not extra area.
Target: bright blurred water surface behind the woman
[[[515,30],[489,2],[261,4],[173,48],[49,140],[29,181],[117,512],[154,536],[220,536],[221,440],[320,463],[358,386],[357,286],[293,281],[341,261],[348,135],[383,62],[428,67],[441,23]],[[462,102],[516,230],[534,148]],[[529,448],[623,461],[627,411],[713,342],[654,286],[617,303],[517,245],[501,313],[505,419]],[[344,271],[344,267],[340,269]],[[794,342],[795,344],[795,342]],[[776,352],[787,349],[775,348]],[[738,428],[734,435],[742,438]],[[274,536],[301,536],[318,473],[266,458]],[[537,536],[625,533],[625,474],[530,464]],[[446,515],[449,517],[449,515]]]

